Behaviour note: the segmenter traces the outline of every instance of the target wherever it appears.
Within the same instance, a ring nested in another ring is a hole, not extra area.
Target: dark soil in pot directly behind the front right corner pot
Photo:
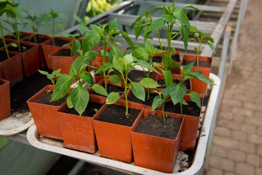
[[[195,104],[195,102],[187,102],[188,105],[182,105],[182,114],[199,116],[200,108]],[[179,113],[180,114],[180,104],[177,103],[173,105],[172,102],[166,102],[164,105],[164,111]]]

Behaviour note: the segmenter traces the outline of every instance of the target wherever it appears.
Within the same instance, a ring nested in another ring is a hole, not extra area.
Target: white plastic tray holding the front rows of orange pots
[[[139,166],[135,166],[133,163],[125,163],[105,157],[100,157],[99,156],[99,151],[95,152],[94,154],[86,153],[86,152],[81,152],[77,150],[72,150],[65,148],[63,146],[63,141],[61,140],[56,140],[56,139],[51,139],[51,138],[46,138],[46,137],[39,137],[38,132],[36,130],[35,125],[33,124],[32,126],[29,127],[27,130],[27,140],[28,142],[33,145],[34,147],[37,147],[39,149],[44,149],[60,154],[64,154],[67,156],[71,156],[74,158],[78,158],[84,161],[88,161],[94,164],[99,164],[99,165],[104,165],[107,167],[112,167],[112,168],[118,168],[134,173],[140,173],[140,174],[199,174],[202,172],[203,168],[203,161],[204,161],[204,154],[207,146],[207,140],[208,140],[208,135],[209,135],[209,130],[210,130],[210,124],[212,121],[212,116],[213,116],[213,111],[216,107],[216,99],[219,91],[219,85],[220,85],[220,79],[210,73],[210,79],[216,84],[213,85],[208,104],[206,106],[205,110],[205,115],[203,117],[202,121],[202,126],[201,130],[199,133],[199,139],[196,147],[196,151],[194,154],[194,159],[192,162],[192,165],[188,168],[183,170],[182,172],[178,172],[178,169],[181,170],[181,166],[183,166],[184,159],[186,159],[186,154],[184,154],[182,151],[178,152],[177,155],[177,160],[175,162],[175,167],[173,169],[173,173],[163,173]]]

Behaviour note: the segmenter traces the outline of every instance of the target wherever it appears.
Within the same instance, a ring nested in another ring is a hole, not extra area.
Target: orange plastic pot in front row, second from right
[[[125,100],[119,99],[114,104],[125,106]],[[97,120],[106,107],[107,104],[104,104],[93,117],[93,126],[100,156],[130,163],[132,161],[131,126]],[[128,101],[128,107],[141,110],[144,105]]]

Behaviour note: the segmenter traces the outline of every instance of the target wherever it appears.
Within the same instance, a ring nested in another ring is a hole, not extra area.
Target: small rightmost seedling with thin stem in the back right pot
[[[213,44],[214,40],[211,36],[202,33],[196,26],[191,25],[190,33],[193,33],[195,38],[189,38],[191,41],[197,41],[199,44],[197,47],[194,47],[196,51],[196,66],[199,66],[198,58],[199,58],[199,51],[202,43],[208,44],[212,51],[215,53],[215,46]],[[197,39],[197,40],[196,40]]]

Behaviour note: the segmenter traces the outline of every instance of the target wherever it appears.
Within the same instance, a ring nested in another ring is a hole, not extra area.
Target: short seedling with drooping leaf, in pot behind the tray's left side
[[[62,32],[59,34],[59,36],[72,38],[71,44],[63,45],[70,48],[70,56],[75,55],[77,51],[81,48],[81,42],[76,39],[76,37],[79,36],[79,33],[70,34],[70,33]]]

